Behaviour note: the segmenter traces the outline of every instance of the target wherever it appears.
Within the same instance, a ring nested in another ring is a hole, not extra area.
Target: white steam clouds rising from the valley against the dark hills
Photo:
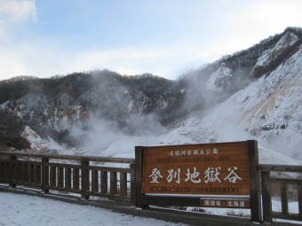
[[[94,90],[87,91],[82,97],[83,100],[96,100],[100,106],[82,127],[76,127],[72,130],[72,135],[80,141],[79,144],[85,152],[92,155],[104,155],[106,152],[106,155],[111,156],[115,154],[112,146],[116,146],[117,143],[127,143],[127,148],[133,152],[135,145],[209,143],[216,141],[216,134],[214,132],[208,133],[208,130],[204,128],[202,131],[197,131],[197,129],[194,133],[188,133],[188,135],[186,135],[186,131],[178,131],[179,136],[177,133],[168,133],[168,127],[161,125],[160,119],[155,113],[130,113],[130,94],[111,75],[99,76],[98,72],[93,74],[96,86]],[[179,121],[181,123],[184,120],[183,116],[189,119],[192,113],[197,113],[199,120],[201,120],[206,114],[211,114],[216,105],[219,105],[230,96],[227,91],[208,90],[205,84],[209,77],[210,74],[203,73],[186,77],[184,101],[181,107],[176,109],[179,111]],[[232,85],[233,89],[242,87],[242,84],[234,83]],[[234,86],[236,87],[234,88]],[[112,87],[115,88],[114,92]],[[174,125],[176,124],[174,123]],[[119,145],[124,146],[123,144]],[[120,149],[120,147],[115,148]],[[109,150],[111,150],[111,153]]]

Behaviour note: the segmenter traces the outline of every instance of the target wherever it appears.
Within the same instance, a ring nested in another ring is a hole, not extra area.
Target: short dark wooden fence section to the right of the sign
[[[272,222],[272,218],[301,221],[302,167],[258,165],[258,171],[261,173],[263,221]],[[296,174],[290,176],[289,173]],[[273,209],[274,197],[281,198],[281,212]],[[290,203],[298,203],[298,213],[290,213]]]

